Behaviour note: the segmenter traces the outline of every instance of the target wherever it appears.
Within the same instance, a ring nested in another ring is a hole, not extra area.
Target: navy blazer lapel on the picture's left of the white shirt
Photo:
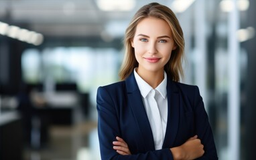
[[[155,150],[153,133],[151,131],[147,113],[141,98],[141,93],[133,73],[131,73],[131,75],[125,80],[125,83],[127,88],[128,107],[131,108],[133,117],[137,121],[139,131],[141,132],[140,139],[143,141],[145,151],[153,151]]]

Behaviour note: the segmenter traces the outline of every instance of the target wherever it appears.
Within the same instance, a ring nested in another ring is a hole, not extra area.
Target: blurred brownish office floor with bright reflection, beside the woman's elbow
[[[24,149],[24,160],[99,160],[97,122],[84,120],[74,125],[52,125],[48,143],[39,149]]]

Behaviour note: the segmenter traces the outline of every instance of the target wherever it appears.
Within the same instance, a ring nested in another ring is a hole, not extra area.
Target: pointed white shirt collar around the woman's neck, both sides
[[[133,70],[135,80],[139,87],[139,91],[141,91],[142,97],[145,98],[153,88],[138,75],[135,69]],[[167,75],[166,75],[166,71],[164,71],[164,80],[155,88],[155,90],[157,90],[164,99],[166,99],[166,94],[167,94],[166,86],[167,86]]]

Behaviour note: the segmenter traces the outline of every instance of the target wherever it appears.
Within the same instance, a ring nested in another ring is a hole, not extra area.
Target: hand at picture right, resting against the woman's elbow
[[[195,135],[188,139],[179,147],[171,148],[174,159],[196,159],[204,155],[204,145],[201,140]]]

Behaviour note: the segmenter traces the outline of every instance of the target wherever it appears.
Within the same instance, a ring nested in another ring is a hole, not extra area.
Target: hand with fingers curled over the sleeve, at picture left
[[[123,139],[120,137],[116,137],[117,141],[113,141],[113,149],[117,151],[120,155],[131,155],[129,147]]]

